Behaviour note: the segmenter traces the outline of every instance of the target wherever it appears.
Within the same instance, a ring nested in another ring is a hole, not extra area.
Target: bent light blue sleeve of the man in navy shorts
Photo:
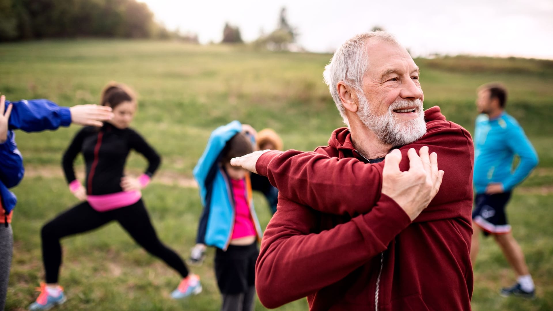
[[[509,149],[520,157],[520,162],[509,178],[503,181],[503,189],[509,191],[515,185],[521,183],[531,170],[538,165],[538,154],[532,143],[524,134],[524,130],[518,124],[511,125],[509,128],[509,139],[507,139]]]

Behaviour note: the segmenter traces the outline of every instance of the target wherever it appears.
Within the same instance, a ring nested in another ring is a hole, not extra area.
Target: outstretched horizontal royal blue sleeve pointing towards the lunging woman
[[[20,100],[12,103],[9,116],[9,129],[22,129],[25,132],[40,132],[45,129],[57,129],[71,124],[71,112],[68,107],[60,107],[49,100]]]

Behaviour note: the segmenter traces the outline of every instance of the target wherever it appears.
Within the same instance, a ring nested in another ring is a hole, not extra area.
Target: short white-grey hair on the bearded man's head
[[[334,55],[332,55],[330,63],[325,66],[325,72],[322,74],[326,85],[328,85],[328,89],[330,89],[332,99],[334,99],[336,107],[340,111],[343,122],[347,127],[349,127],[349,121],[347,120],[336,85],[339,81],[344,81],[347,85],[353,87],[357,91],[357,94],[363,94],[363,75],[368,70],[365,44],[369,39],[399,45],[394,36],[387,32],[377,31],[358,34],[340,45]]]

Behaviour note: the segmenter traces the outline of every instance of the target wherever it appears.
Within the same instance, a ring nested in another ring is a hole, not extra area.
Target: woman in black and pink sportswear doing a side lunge
[[[100,104],[113,109],[112,120],[101,128],[82,128],[64,153],[65,178],[71,193],[81,203],[50,220],[41,230],[45,283],[41,283],[40,294],[29,305],[30,310],[48,310],[66,301],[64,289],[58,283],[62,262],[60,240],[98,229],[114,220],[135,242],[180,274],[182,280],[171,294],[173,298],[184,298],[202,290],[199,277],[189,273],[180,256],[159,240],[143,203],[140,190],[149,184],[161,158],[129,127],[137,109],[133,90],[111,82],[102,91]],[[138,178],[125,176],[123,172],[132,149],[148,160],[148,168]],[[83,154],[86,164],[85,186],[75,176],[74,162],[79,153]]]

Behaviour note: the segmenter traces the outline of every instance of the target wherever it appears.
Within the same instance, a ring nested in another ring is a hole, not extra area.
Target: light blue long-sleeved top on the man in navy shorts
[[[515,154],[520,162],[513,171]],[[510,191],[536,165],[538,154],[515,118],[505,112],[493,120],[484,114],[476,118],[473,183],[477,194],[485,193],[489,183],[502,183]]]

